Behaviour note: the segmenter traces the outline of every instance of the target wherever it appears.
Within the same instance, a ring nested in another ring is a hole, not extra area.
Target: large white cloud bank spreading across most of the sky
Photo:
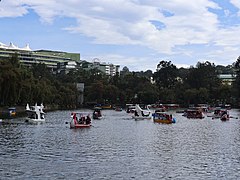
[[[240,9],[239,0],[229,2]],[[239,25],[221,26],[224,22],[213,10],[222,10],[225,16],[233,12],[210,0],[8,0],[0,5],[0,17],[24,16],[33,10],[42,23],[73,18],[77,23],[64,30],[87,36],[92,44],[140,46],[162,57],[200,57],[199,49],[190,49],[198,45],[206,50],[202,53],[206,58],[221,59],[224,53],[236,55],[240,46]],[[136,59],[139,61],[134,57],[128,61],[136,63]]]

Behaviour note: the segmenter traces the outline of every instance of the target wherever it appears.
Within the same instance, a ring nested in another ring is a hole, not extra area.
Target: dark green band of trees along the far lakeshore
[[[218,75],[236,74],[232,85],[223,84]],[[84,105],[126,103],[208,103],[239,105],[240,58],[229,66],[206,61],[190,68],[177,68],[161,60],[156,71],[131,72],[125,66],[120,74],[109,77],[98,69],[82,67],[68,74],[53,74],[45,64],[22,66],[17,54],[0,59],[0,106],[44,103],[59,108],[76,108],[79,92],[76,83],[84,83]]]

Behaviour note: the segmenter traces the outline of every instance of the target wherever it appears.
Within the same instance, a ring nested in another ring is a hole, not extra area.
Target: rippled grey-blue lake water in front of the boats
[[[240,178],[239,118],[172,112],[177,122],[166,125],[105,110],[91,128],[70,129],[70,113],[49,112],[40,125],[0,125],[0,179]]]

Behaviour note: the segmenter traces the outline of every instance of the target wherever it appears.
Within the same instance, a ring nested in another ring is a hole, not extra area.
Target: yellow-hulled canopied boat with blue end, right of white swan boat
[[[157,123],[172,124],[176,123],[175,118],[171,114],[163,111],[157,111],[153,114],[153,121]]]

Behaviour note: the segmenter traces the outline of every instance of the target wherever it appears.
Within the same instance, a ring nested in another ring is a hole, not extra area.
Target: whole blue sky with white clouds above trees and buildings
[[[240,0],[1,0],[0,42],[155,71],[240,55]]]

